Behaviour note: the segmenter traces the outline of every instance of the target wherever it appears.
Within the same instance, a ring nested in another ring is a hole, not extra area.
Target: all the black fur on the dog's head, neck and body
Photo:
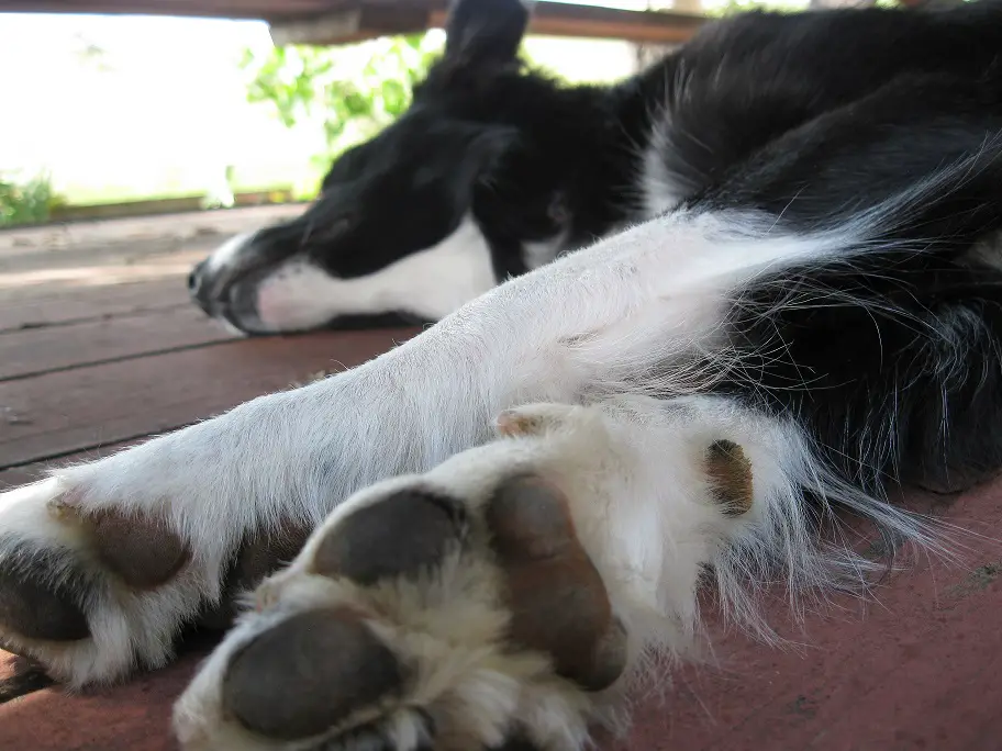
[[[648,216],[657,133],[689,211],[765,212],[787,234],[870,222],[850,259],[742,291],[739,365],[715,389],[797,418],[868,490],[1002,464],[1002,265],[969,253],[1002,229],[1002,5],[746,13],[609,88],[525,70],[525,23],[514,0],[460,3],[411,110],[236,276],[296,253],[366,274],[468,213],[498,279],[522,273],[527,242],[580,247]]]

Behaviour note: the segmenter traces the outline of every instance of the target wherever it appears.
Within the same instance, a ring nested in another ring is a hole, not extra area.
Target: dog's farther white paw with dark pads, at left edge
[[[0,494],[0,644],[70,687],[160,666],[186,625],[229,625],[243,591],[309,535],[219,519],[197,467],[188,492],[170,481],[185,474],[125,452]]]

